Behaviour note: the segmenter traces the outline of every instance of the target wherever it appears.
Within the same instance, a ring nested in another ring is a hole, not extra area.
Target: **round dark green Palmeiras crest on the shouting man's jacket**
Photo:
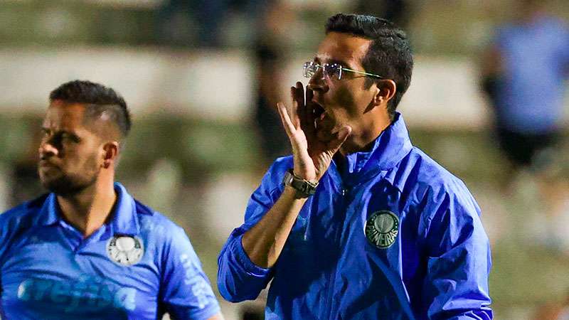
[[[368,241],[380,249],[393,245],[399,233],[399,217],[388,210],[373,213],[364,228]]]

